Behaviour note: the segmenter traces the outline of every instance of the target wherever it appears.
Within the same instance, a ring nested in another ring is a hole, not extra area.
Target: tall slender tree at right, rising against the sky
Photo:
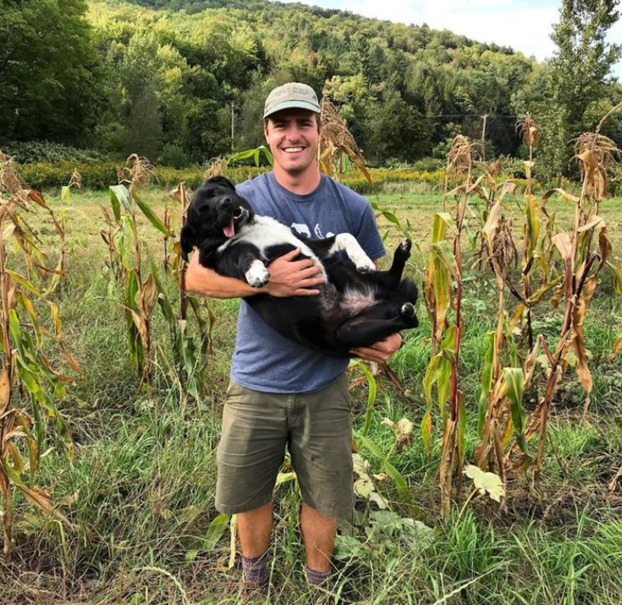
[[[539,157],[545,176],[567,171],[570,140],[596,126],[587,109],[607,96],[607,80],[622,54],[605,35],[619,19],[619,0],[563,0],[552,39],[557,45],[549,72],[549,102],[540,111],[543,124]]]

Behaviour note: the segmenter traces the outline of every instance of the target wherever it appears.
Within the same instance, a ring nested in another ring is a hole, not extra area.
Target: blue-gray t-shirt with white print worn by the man
[[[351,233],[370,259],[385,250],[369,201],[322,175],[314,192],[299,196],[276,181],[272,172],[236,187],[256,214],[272,216],[310,239]],[[270,393],[310,393],[327,387],[346,371],[348,360],[321,355],[281,336],[242,301],[238,315],[232,379],[247,389]]]

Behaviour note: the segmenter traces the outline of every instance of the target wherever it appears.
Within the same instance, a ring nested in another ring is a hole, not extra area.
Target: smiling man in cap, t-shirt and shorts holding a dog
[[[273,216],[305,236],[352,233],[377,265],[384,247],[369,202],[319,172],[320,108],[310,86],[294,82],[270,93],[264,135],[274,169],[238,185],[238,193],[257,214]],[[295,261],[299,252],[270,263],[270,281],[259,290],[203,268],[194,254],[187,288],[216,298],[258,292],[318,295],[321,270],[308,259]],[[402,337],[394,334],[353,353],[386,362],[400,346]],[[310,584],[328,579],[337,521],[350,514],[353,504],[347,365],[347,360],[325,357],[282,337],[243,302],[218,445],[216,508],[238,515],[249,583],[267,579],[272,490],[285,445],[303,496],[307,578]]]

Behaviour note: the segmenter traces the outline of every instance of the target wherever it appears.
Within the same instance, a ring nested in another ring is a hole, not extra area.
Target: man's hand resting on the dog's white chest
[[[270,281],[267,286],[264,286],[263,292],[275,297],[317,296],[319,294],[319,290],[313,286],[319,286],[320,283],[326,281],[322,268],[311,259],[294,261],[300,252],[300,248],[296,248],[274,259],[267,266],[270,271]]]

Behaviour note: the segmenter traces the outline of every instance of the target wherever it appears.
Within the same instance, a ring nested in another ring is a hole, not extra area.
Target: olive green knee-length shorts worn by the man
[[[262,393],[231,382],[218,444],[216,508],[247,512],[272,501],[288,447],[303,502],[352,512],[352,419],[345,374],[313,393]]]

